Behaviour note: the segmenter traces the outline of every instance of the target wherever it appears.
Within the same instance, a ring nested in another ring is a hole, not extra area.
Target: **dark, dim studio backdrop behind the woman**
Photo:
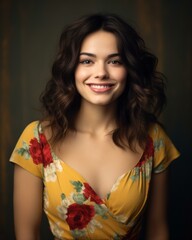
[[[0,0],[0,239],[14,239],[10,154],[24,127],[39,118],[59,35],[87,13],[113,12],[131,23],[159,57],[168,78],[162,114],[181,152],[171,165],[171,240],[192,239],[192,1]],[[42,239],[52,239],[43,221]]]

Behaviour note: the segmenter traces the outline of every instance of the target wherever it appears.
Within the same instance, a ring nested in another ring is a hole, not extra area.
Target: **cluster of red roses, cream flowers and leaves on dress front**
[[[88,183],[71,181],[74,192],[69,198],[61,194],[61,205],[57,207],[58,213],[69,225],[74,237],[86,235],[86,231],[94,232],[96,227],[102,225],[94,219],[95,215],[100,215],[107,219],[107,209],[102,206],[103,201],[97,196]]]

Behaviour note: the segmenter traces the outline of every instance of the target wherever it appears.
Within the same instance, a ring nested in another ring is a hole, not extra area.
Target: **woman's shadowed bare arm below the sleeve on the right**
[[[153,174],[147,211],[147,239],[169,239],[167,224],[168,170]]]

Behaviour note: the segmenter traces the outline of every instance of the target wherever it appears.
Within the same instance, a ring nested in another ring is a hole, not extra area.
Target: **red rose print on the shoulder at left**
[[[49,144],[43,134],[39,134],[40,142],[37,138],[30,141],[29,153],[35,164],[42,163],[44,167],[53,162]]]

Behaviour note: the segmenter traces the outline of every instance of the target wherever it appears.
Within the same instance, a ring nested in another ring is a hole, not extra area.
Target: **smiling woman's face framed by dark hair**
[[[126,79],[127,69],[116,36],[102,30],[88,35],[75,71],[75,84],[82,101],[97,105],[113,103],[122,94]]]

